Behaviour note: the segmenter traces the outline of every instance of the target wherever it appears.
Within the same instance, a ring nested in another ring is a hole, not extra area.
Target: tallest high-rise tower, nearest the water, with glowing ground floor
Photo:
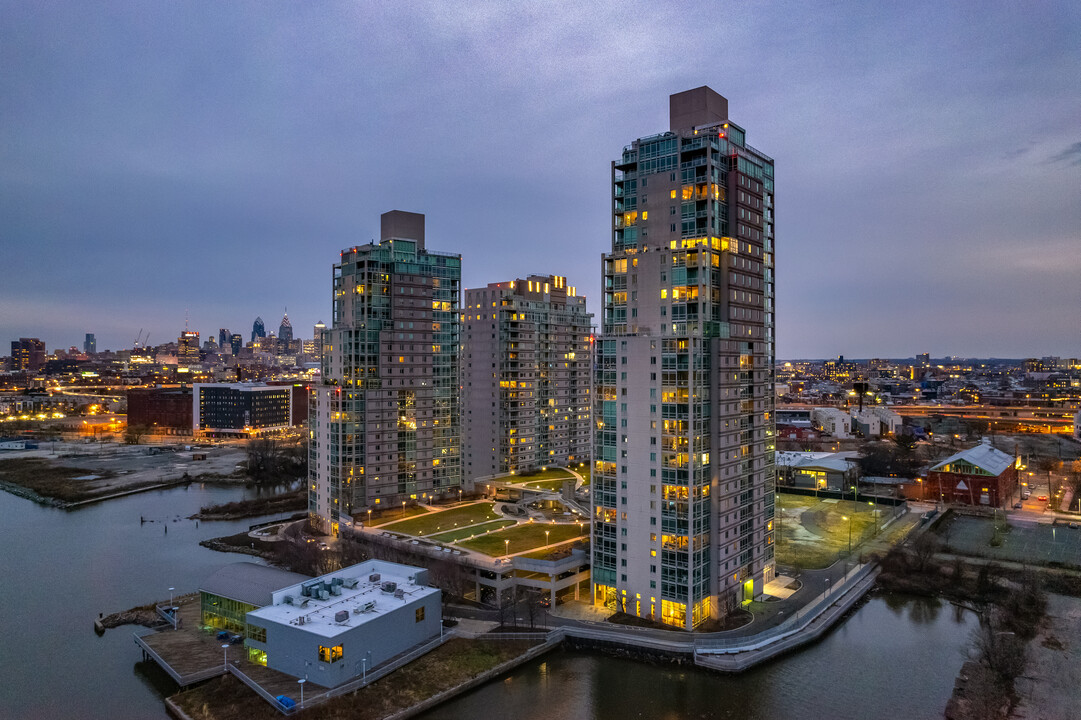
[[[773,160],[709,88],[612,163],[593,600],[694,628],[773,579]]]

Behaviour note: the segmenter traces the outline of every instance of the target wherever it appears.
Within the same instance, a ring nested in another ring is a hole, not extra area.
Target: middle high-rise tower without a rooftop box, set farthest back
[[[590,321],[560,276],[465,291],[464,470],[469,479],[587,462]]]

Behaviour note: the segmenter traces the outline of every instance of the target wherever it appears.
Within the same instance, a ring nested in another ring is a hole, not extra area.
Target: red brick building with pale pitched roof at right
[[[989,444],[962,450],[938,463],[924,482],[926,499],[1006,507],[1017,492],[1017,463]]]

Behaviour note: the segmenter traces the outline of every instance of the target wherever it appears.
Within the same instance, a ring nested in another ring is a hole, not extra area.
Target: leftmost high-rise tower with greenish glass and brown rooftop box
[[[462,256],[425,249],[424,215],[392,211],[381,226],[378,244],[334,265],[312,390],[308,508],[334,534],[364,508],[462,486]]]

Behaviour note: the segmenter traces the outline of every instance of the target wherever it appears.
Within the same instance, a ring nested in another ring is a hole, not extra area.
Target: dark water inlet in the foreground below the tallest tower
[[[940,718],[975,624],[933,599],[873,597],[822,642],[739,676],[557,651],[421,717]]]

